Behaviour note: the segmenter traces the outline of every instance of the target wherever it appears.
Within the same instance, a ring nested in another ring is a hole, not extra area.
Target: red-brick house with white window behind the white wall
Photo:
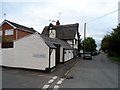
[[[36,31],[8,20],[4,20],[0,25],[0,36],[5,40],[17,40],[27,35],[33,34]]]

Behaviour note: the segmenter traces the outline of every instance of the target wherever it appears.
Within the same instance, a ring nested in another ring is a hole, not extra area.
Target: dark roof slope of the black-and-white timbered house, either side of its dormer
[[[53,26],[53,29],[56,30],[56,38],[58,39],[74,39],[76,33],[78,32],[79,24],[68,24],[68,25],[59,25]],[[43,29],[42,34],[49,36],[48,26]]]

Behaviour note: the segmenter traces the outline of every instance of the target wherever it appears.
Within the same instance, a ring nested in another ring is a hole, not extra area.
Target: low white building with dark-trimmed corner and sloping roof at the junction
[[[72,50],[64,41],[36,33],[15,41],[14,48],[3,48],[1,65],[51,71],[58,63],[73,58]]]

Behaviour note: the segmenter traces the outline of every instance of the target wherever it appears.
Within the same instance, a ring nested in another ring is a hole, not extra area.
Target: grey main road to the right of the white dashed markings
[[[118,88],[118,63],[108,60],[105,54],[93,60],[79,61],[60,88]]]

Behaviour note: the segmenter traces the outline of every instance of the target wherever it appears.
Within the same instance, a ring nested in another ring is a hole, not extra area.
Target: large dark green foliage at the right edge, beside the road
[[[110,56],[120,56],[120,25],[104,36],[101,49],[108,52]]]

